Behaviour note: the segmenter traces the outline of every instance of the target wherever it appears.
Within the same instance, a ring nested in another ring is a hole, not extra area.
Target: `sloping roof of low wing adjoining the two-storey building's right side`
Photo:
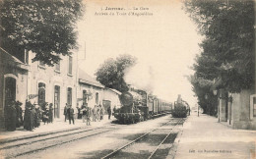
[[[86,72],[84,72],[82,69],[79,69],[79,82],[86,83],[89,85],[94,85],[96,87],[103,88],[105,87],[103,84],[101,84],[99,81],[88,75]]]

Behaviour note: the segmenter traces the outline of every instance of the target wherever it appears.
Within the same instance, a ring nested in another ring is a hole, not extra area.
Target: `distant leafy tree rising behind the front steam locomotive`
[[[120,55],[115,60],[110,58],[96,71],[96,79],[107,87],[117,89],[121,92],[127,91],[128,86],[125,82],[125,70],[136,64],[137,59],[131,55]]]

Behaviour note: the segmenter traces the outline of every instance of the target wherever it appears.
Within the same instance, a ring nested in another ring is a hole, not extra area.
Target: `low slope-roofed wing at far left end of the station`
[[[25,104],[30,67],[0,48],[0,129],[4,128],[4,108],[12,100]]]

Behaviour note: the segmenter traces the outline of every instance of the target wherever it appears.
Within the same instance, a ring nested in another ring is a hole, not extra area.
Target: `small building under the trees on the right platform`
[[[224,90],[217,80],[218,120],[233,129],[256,130],[256,94],[253,88],[239,93]]]

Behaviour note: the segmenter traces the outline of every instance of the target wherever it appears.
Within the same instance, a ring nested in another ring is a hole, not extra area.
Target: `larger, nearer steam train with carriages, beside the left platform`
[[[172,103],[161,100],[145,90],[130,89],[120,96],[122,107],[114,112],[114,117],[123,124],[134,124],[149,120],[172,109]]]

